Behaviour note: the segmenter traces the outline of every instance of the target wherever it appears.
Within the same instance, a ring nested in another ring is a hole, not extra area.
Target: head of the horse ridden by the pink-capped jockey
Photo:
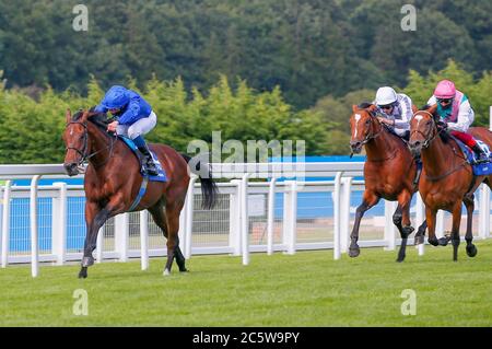
[[[408,147],[413,155],[419,155],[422,149],[429,147],[438,133],[435,110],[437,105],[425,106],[417,110],[410,120],[410,141]]]

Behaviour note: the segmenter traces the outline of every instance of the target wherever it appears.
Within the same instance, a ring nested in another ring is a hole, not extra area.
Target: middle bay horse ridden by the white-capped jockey
[[[418,188],[414,184],[417,164],[403,140],[378,121],[376,109],[374,104],[368,103],[353,105],[350,117],[352,153],[360,153],[362,147],[365,147],[367,159],[364,163],[365,190],[350,234],[349,256],[356,257],[360,254],[359,228],[365,211],[384,198],[398,201],[393,222],[401,236],[397,261],[403,261],[407,239],[413,232],[410,225],[410,202]],[[424,221],[415,239],[423,235],[425,228]]]

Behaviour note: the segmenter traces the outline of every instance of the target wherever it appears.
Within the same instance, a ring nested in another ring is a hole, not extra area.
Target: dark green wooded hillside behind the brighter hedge
[[[257,91],[279,85],[297,109],[380,84],[406,86],[453,58],[480,78],[491,69],[492,1],[469,0],[79,0],[0,1],[0,69],[7,88],[86,93],[136,79],[181,77],[207,92],[220,74]],[[417,8],[403,32],[402,4]]]

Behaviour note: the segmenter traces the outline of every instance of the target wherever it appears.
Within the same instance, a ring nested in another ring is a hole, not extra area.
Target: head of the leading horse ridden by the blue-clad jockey
[[[89,154],[87,116],[89,112],[78,112],[72,117],[70,109],[67,109],[67,126],[63,131],[67,152],[63,167],[69,176],[78,175],[82,171],[82,163]]]

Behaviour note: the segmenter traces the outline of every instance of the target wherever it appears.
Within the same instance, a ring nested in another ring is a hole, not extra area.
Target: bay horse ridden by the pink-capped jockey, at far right
[[[475,209],[473,193],[481,183],[490,188],[492,175],[476,176],[471,165],[456,141],[447,135],[444,128],[438,128],[437,105],[424,106],[415,110],[410,123],[409,148],[413,153],[422,155],[422,177],[419,191],[425,203],[425,218],[429,224],[429,243],[433,246],[447,245],[449,239],[453,244],[453,260],[458,260],[459,224],[461,222],[461,202],[467,209],[467,254],[477,255],[477,247],[472,244],[472,214]],[[492,149],[492,132],[482,127],[470,127],[468,132],[476,139],[485,142]],[[437,240],[435,236],[435,221],[438,210],[453,214],[450,237]]]

